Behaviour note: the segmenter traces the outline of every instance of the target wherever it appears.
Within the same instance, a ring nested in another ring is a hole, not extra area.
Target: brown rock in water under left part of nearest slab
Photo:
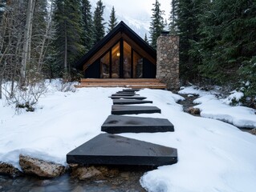
[[[100,170],[97,170],[95,166],[73,166],[71,168],[71,176],[78,178],[79,180],[86,180],[88,178],[95,178],[102,175]]]

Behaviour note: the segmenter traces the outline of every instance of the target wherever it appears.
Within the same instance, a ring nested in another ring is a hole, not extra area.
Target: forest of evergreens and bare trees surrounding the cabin
[[[0,0],[0,85],[10,82],[10,90],[2,86],[5,96],[19,103],[17,95],[30,90],[36,102],[44,79],[82,77],[75,62],[117,25],[114,6],[105,21],[101,0],[95,10],[89,0]],[[152,4],[144,40],[156,48],[162,30],[180,36],[181,85],[229,86],[255,108],[255,0],[170,0],[169,6],[164,13],[157,0]]]

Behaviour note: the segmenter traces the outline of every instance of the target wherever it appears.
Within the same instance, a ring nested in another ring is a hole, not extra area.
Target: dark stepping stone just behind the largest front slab
[[[101,130],[108,134],[156,133],[174,131],[173,124],[165,118],[137,118],[109,115]]]

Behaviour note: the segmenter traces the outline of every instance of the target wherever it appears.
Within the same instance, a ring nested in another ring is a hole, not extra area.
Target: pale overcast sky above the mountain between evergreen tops
[[[116,12],[124,15],[129,15],[132,18],[136,18],[136,15],[142,13],[148,13],[152,15],[152,4],[156,0],[102,0],[102,2],[115,6]],[[171,9],[171,0],[159,0],[161,3],[161,10],[165,10],[165,18],[169,18]]]

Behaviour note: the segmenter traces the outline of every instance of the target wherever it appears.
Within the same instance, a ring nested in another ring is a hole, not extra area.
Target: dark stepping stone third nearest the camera
[[[161,114],[156,106],[112,106],[112,114]]]

